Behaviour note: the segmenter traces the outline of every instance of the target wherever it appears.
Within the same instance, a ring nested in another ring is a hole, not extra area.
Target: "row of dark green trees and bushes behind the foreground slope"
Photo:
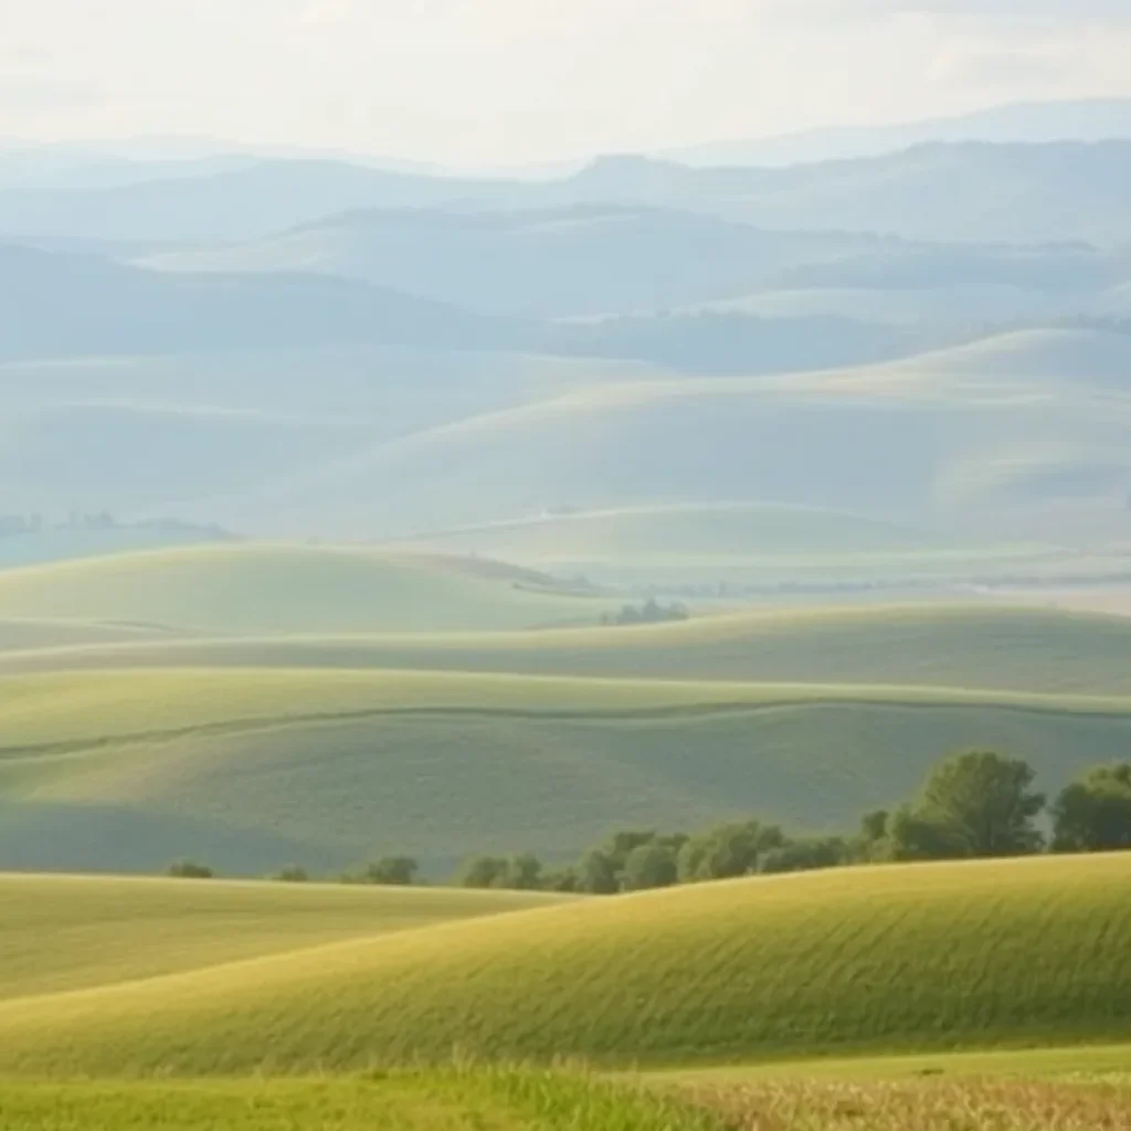
[[[465,888],[614,895],[843,864],[1131,849],[1131,762],[1089,769],[1051,806],[1033,788],[1035,779],[1033,767],[1021,759],[975,750],[944,759],[914,800],[865,813],[847,836],[789,837],[758,820],[727,821],[690,834],[625,829],[568,867],[547,867],[532,853],[472,856],[455,882]],[[1042,828],[1038,822],[1045,815]],[[340,880],[406,887],[420,882],[420,871],[412,856],[385,856]],[[213,872],[181,861],[169,874],[208,879]],[[292,865],[274,879],[302,882],[309,877]]]

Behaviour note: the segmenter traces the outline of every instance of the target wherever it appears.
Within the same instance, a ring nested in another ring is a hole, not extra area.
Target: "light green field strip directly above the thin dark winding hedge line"
[[[0,759],[93,745],[223,736],[265,726],[381,718],[494,716],[648,720],[775,710],[797,705],[993,707],[1034,714],[1131,715],[1131,698],[1003,694],[965,689],[821,684],[676,683],[477,674],[204,668],[0,681]],[[371,706],[363,706],[369,700]],[[375,701],[374,701],[375,700]],[[318,709],[325,702],[322,709]],[[136,728],[180,717],[179,725]],[[98,727],[111,729],[98,729]],[[90,729],[94,728],[94,729]],[[58,732],[58,736],[51,736]],[[19,736],[37,741],[20,742]],[[12,737],[16,739],[12,742]]]

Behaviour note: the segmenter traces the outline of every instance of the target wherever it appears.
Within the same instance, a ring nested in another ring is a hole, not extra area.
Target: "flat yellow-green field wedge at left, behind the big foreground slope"
[[[68,875],[0,875],[0,1001],[559,901],[518,892]]]

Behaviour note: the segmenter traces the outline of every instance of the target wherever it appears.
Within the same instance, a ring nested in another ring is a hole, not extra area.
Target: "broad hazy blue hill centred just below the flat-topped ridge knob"
[[[347,213],[267,240],[146,262],[196,271],[319,271],[484,312],[560,318],[733,297],[787,268],[884,245],[866,235],[768,232],[688,211],[579,205]]]

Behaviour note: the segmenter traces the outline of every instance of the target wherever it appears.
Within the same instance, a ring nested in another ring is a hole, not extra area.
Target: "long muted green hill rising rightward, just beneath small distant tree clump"
[[[523,633],[165,637],[9,651],[0,655],[0,672],[407,668],[1123,696],[1131,694],[1122,662],[1129,649],[1125,616],[956,602],[748,611],[649,627]]]

